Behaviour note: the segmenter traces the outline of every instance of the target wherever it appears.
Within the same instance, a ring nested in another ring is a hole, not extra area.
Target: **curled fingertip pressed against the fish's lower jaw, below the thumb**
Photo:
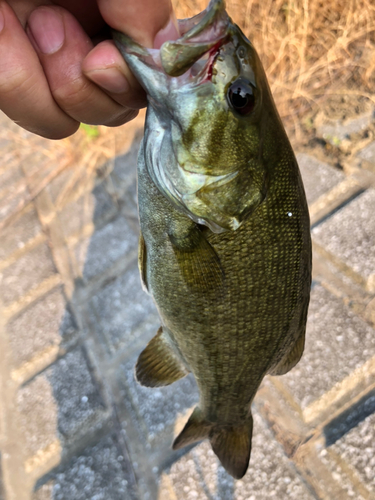
[[[105,89],[116,102],[132,109],[146,106],[146,93],[134,78],[114,43],[98,44],[82,63],[85,75]]]

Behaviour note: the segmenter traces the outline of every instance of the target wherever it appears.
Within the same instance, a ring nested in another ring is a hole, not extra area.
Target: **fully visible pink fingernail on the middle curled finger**
[[[41,7],[31,13],[28,27],[43,54],[53,54],[63,45],[64,24],[61,15],[48,7]]]

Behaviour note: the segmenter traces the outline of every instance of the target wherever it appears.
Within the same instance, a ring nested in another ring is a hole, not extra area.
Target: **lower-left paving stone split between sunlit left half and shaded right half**
[[[26,448],[33,455],[63,435],[69,439],[104,409],[82,349],[55,362],[17,395]]]

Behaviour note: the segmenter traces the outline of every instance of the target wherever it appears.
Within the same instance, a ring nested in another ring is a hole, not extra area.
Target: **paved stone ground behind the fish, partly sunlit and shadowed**
[[[332,106],[295,148],[314,248],[305,354],[262,384],[241,481],[207,442],[171,450],[191,376],[134,380],[159,326],[137,269],[142,117],[78,189],[91,143],[77,156],[1,116],[1,500],[375,498],[374,109]]]

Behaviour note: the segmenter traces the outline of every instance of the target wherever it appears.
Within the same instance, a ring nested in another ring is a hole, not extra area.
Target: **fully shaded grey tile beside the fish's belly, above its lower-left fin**
[[[142,290],[137,263],[115,281],[100,290],[89,303],[92,327],[104,335],[108,348],[115,353],[139,337],[137,330],[156,307],[151,297]],[[159,327],[155,325],[155,333]]]

